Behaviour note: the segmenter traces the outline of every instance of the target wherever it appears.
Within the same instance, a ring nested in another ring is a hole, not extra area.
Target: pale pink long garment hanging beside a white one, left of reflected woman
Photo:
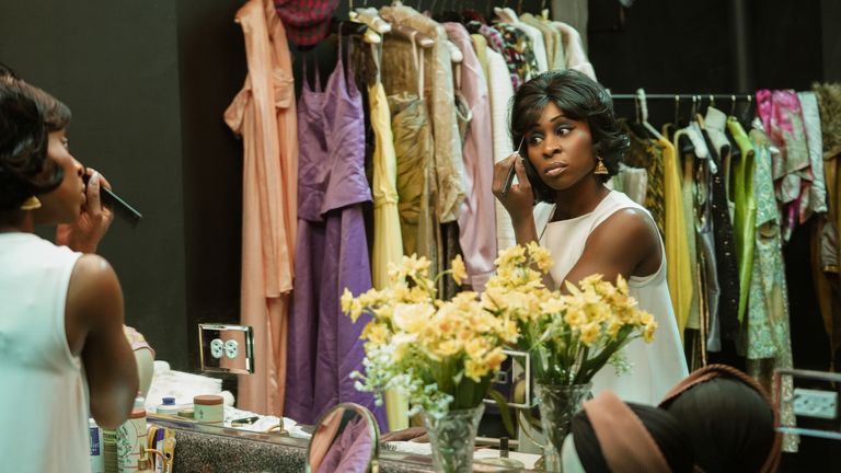
[[[461,62],[461,93],[473,116],[464,147],[465,199],[459,211],[459,244],[464,254],[469,282],[483,291],[494,273],[496,258],[496,210],[491,184],[494,177],[494,150],[491,135],[491,100],[482,65],[473,50],[470,34],[461,23],[445,23],[450,41],[464,58]]]

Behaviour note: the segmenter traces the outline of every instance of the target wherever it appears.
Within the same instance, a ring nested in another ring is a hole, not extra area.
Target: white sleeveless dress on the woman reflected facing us
[[[549,221],[554,205],[538,204],[534,207],[540,244],[552,252],[555,262],[550,273],[556,285],[563,282],[580,258],[590,233],[614,212],[625,208],[642,209],[650,218],[644,207],[615,191],[608,194],[591,212],[568,220]],[[625,401],[656,405],[669,389],[689,376],[666,284],[663,239],[660,249],[663,258],[657,272],[646,277],[632,276],[627,281],[630,295],[637,300],[641,309],[650,312],[657,321],[654,341],[646,344],[637,338],[625,346],[631,371],[617,376],[612,366],[606,366],[594,377],[594,394],[611,390]]]

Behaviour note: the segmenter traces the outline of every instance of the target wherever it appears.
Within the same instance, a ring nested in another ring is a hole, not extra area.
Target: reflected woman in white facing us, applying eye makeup
[[[510,128],[512,142],[522,145],[495,165],[493,192],[511,216],[517,243],[537,241],[552,252],[548,286],[565,290],[564,280],[622,275],[658,324],[652,344],[637,338],[624,348],[631,371],[603,368],[594,393],[658,402],[688,369],[657,226],[645,208],[604,185],[629,149],[610,94],[577,71],[542,73],[515,94]],[[518,183],[503,193],[511,165]]]

